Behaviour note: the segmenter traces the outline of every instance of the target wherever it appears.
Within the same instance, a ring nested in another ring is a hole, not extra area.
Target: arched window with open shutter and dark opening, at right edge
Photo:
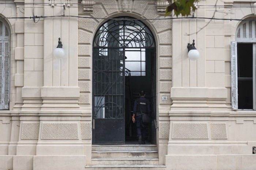
[[[231,42],[232,109],[256,110],[256,22],[244,21]]]

